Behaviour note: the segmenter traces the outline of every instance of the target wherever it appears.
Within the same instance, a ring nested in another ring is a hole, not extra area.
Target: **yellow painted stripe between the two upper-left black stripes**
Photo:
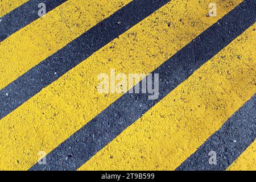
[[[131,0],[70,0],[0,43],[0,89]]]

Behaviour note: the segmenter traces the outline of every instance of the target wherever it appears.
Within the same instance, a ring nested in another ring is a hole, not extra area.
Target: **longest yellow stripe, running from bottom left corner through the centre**
[[[217,18],[205,15],[209,2],[171,1],[3,118],[0,169],[31,167],[117,100],[97,92],[99,73],[153,71],[241,1],[218,1]]]

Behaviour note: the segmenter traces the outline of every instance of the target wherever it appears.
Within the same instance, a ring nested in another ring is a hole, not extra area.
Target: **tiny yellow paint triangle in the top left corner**
[[[23,3],[27,2],[28,0],[0,0],[0,17],[10,13],[10,11],[16,9]]]

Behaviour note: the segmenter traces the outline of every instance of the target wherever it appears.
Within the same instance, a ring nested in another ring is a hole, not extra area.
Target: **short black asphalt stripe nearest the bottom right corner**
[[[177,171],[225,170],[256,138],[256,94],[228,119]],[[217,164],[209,159],[214,151]]]

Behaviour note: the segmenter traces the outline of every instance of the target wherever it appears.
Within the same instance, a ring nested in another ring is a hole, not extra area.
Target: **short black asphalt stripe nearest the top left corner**
[[[14,9],[9,14],[2,16],[0,18],[0,42],[40,18],[38,15],[40,9],[38,7],[39,3],[46,4],[46,13],[48,13],[66,1],[67,0],[30,0]]]

